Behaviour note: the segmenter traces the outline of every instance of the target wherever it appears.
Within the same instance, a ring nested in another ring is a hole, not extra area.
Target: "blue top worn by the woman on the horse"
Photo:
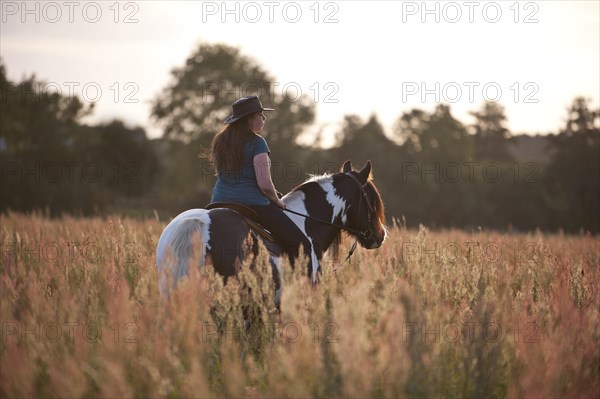
[[[254,170],[254,157],[265,152],[271,153],[263,137],[253,136],[246,141],[242,167],[237,171],[219,172],[210,201],[268,205],[269,199],[258,187]]]

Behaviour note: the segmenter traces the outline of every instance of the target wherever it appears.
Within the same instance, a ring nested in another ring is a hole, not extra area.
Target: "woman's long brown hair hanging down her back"
[[[210,160],[215,168],[215,174],[235,172],[243,166],[244,144],[246,139],[254,135],[248,123],[252,115],[225,126],[213,138]]]

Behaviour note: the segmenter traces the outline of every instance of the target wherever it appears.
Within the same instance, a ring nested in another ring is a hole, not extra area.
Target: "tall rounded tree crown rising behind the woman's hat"
[[[152,116],[164,125],[166,138],[190,141],[222,127],[236,98],[258,95],[269,115],[269,143],[294,143],[314,119],[305,96],[289,98],[282,85],[237,48],[203,44],[172,71],[172,82],[153,102]],[[290,93],[290,96],[295,93]]]

